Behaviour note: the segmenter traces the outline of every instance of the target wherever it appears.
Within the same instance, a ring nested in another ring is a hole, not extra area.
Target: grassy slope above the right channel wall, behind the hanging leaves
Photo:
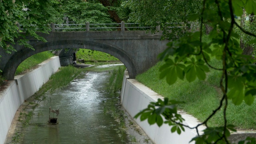
[[[212,60],[211,64],[220,67],[217,60]],[[194,82],[178,80],[169,86],[165,79],[159,79],[159,68],[162,65],[163,62],[158,62],[144,74],[138,75],[136,79],[164,97],[186,102],[179,108],[192,114],[201,122],[204,121],[212,113],[212,110],[217,108],[222,97],[219,88],[220,72],[211,70],[204,81],[198,79]],[[245,103],[234,106],[230,101],[227,110],[228,124],[234,124],[240,130],[256,129],[255,109],[255,102],[252,106]],[[222,114],[222,111],[217,112],[209,121],[208,126],[221,126],[224,123]]]

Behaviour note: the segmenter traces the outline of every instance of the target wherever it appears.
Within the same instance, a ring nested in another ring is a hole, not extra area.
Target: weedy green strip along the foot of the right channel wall
[[[107,102],[102,102],[104,112],[111,114],[111,116],[115,118],[115,120],[119,123],[120,129],[126,130],[131,144],[139,144],[142,141],[145,144],[150,144],[150,140],[142,134],[142,131],[136,122],[128,118],[121,108],[120,91],[122,89],[125,69],[125,66],[119,66],[118,69],[110,71],[107,89],[110,93],[114,92],[115,94],[113,94],[112,98],[109,98]],[[116,97],[116,94],[119,96]],[[107,106],[107,104],[110,104],[110,106]]]

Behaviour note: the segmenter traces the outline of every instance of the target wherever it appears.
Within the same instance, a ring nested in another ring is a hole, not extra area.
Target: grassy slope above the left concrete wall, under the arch
[[[24,60],[17,68],[15,75],[21,74],[25,70],[28,70],[30,68],[33,68],[34,66],[40,64],[44,60],[47,60],[48,58],[54,56],[50,51],[46,52],[40,52],[38,54],[35,54],[33,56],[30,56],[26,60]]]

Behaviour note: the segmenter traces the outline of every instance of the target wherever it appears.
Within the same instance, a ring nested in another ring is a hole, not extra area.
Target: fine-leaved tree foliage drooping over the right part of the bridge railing
[[[200,8],[200,0],[126,0],[124,8],[130,8],[130,22],[152,26],[152,31],[160,26],[164,37],[176,39],[183,36],[196,22],[188,20]],[[179,27],[177,27],[179,26]],[[170,31],[171,30],[171,31]]]

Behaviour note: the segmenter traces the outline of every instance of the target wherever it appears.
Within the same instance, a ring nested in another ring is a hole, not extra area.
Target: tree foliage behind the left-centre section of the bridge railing
[[[60,3],[60,9],[58,9],[59,14],[56,15],[56,24],[86,24],[86,22],[90,24],[121,23],[121,20],[125,18],[128,12],[128,10],[121,8],[121,1],[119,0],[60,0]],[[111,25],[109,27],[115,26],[118,25]],[[73,27],[85,28],[86,26],[58,26],[58,28]],[[92,25],[90,27],[98,28],[107,26]],[[70,30],[74,31],[76,29]]]

